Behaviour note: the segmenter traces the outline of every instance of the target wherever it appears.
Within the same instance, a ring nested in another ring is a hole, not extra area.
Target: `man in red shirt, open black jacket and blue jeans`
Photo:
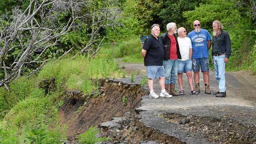
[[[171,22],[167,24],[166,29],[167,32],[160,36],[160,39],[163,42],[165,91],[169,91],[169,94],[173,96],[179,96],[179,93],[174,91],[177,79],[178,59],[181,59],[180,48],[175,35],[177,33],[177,26],[174,22]]]

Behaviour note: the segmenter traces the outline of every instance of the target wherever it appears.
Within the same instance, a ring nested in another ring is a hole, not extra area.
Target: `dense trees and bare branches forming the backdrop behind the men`
[[[194,20],[210,32],[221,20],[232,41],[228,69],[256,69],[253,0],[1,0],[0,15],[0,86],[67,53],[93,57],[101,42],[149,35],[154,23],[162,33],[169,22],[191,31]]]

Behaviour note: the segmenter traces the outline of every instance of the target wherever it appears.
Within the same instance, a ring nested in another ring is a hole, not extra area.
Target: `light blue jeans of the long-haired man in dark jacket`
[[[226,91],[226,80],[225,80],[225,55],[213,56],[213,63],[215,69],[215,76],[219,83],[219,92]]]

